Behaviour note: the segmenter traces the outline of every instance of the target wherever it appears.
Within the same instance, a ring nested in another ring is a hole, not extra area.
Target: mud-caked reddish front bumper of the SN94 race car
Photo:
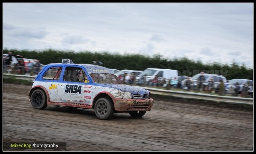
[[[150,111],[154,100],[150,99],[113,99],[116,111]]]

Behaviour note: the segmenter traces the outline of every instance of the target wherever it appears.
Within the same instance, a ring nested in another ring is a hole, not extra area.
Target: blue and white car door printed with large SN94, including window
[[[92,104],[92,81],[82,66],[68,65],[62,73],[61,102]]]

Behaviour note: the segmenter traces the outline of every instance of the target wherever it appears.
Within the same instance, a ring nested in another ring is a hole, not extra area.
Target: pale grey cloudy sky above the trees
[[[3,4],[3,47],[161,54],[253,67],[253,4]]]

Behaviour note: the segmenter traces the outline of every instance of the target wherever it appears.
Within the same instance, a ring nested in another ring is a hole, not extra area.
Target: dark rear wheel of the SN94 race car
[[[43,110],[47,107],[46,99],[47,97],[44,91],[41,89],[36,89],[31,95],[30,102],[35,109]]]

